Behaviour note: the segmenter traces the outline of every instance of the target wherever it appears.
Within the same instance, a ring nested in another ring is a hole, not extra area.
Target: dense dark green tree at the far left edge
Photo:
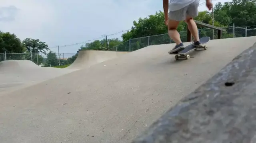
[[[0,31],[0,53],[23,53],[24,46],[17,36],[13,33]]]

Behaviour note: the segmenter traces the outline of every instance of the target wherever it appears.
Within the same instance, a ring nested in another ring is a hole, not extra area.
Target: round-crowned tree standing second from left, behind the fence
[[[46,51],[50,50],[48,48],[48,45],[45,42],[39,41],[39,39],[31,39],[31,38],[26,38],[25,40],[22,41],[22,44],[26,47],[28,51],[32,53],[46,53]]]

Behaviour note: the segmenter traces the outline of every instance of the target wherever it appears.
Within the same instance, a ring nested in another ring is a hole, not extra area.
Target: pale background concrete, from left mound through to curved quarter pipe
[[[73,72],[96,63],[114,59],[129,52],[79,51],[76,61],[65,69],[40,67],[29,60],[0,62],[0,95]]]

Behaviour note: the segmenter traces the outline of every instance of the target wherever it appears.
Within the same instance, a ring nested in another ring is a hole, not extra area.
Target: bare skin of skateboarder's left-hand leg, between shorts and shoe
[[[168,21],[168,34],[171,39],[176,43],[176,45],[179,45],[182,43],[180,39],[180,33],[177,31],[177,27],[180,22],[177,22],[175,20],[169,20]]]

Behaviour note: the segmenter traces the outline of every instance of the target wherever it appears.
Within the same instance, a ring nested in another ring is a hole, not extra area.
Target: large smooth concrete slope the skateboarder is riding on
[[[149,46],[6,93],[0,143],[130,143],[255,42],[211,40],[178,61],[174,44]]]

